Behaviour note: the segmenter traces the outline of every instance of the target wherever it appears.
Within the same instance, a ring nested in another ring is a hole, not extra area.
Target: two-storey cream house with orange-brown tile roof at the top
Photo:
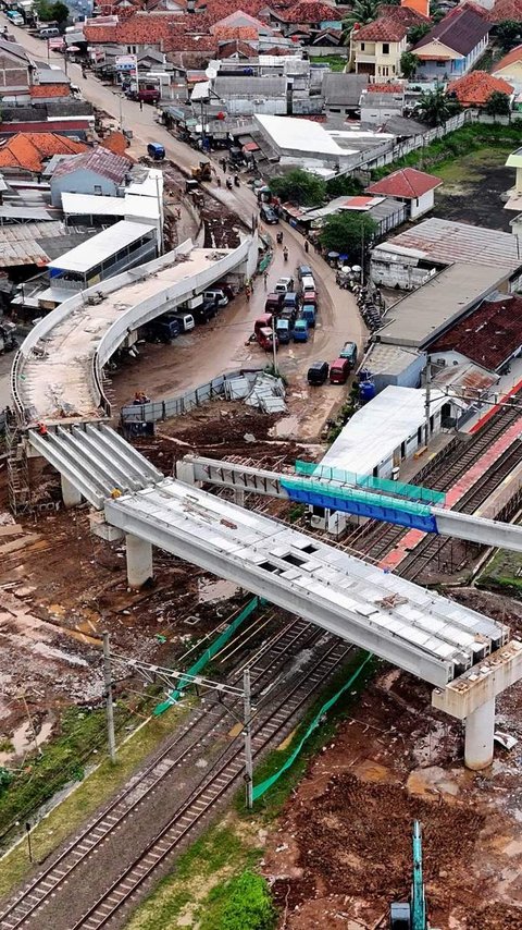
[[[400,75],[400,57],[408,46],[408,26],[395,17],[383,16],[351,33],[351,57],[356,74],[372,81]]]

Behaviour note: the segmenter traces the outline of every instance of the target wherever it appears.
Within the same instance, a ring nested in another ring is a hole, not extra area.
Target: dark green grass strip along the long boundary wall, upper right
[[[483,123],[462,126],[461,130],[448,133],[447,136],[436,139],[431,145],[408,152],[391,164],[374,169],[371,172],[372,180],[377,181],[398,168],[422,168],[424,171],[428,171],[435,164],[438,166],[446,161],[452,161],[455,158],[469,156],[470,152],[477,149],[487,148],[488,157],[494,158],[494,149],[504,148],[511,151],[515,145],[520,145],[521,131],[522,120],[513,120],[509,126]]]

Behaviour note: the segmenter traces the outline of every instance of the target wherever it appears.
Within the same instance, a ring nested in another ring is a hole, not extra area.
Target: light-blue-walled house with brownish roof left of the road
[[[51,204],[62,205],[62,194],[99,194],[116,197],[128,178],[132,163],[128,158],[113,155],[102,146],[64,158],[51,178]]]

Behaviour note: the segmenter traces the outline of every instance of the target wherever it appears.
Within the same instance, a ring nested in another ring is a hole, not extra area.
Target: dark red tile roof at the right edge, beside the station
[[[460,352],[492,371],[522,345],[522,297],[484,301],[431,346],[430,353]]]

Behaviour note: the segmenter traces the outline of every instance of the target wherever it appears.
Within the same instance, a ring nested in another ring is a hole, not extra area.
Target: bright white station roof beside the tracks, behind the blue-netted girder
[[[320,464],[371,475],[425,423],[425,391],[388,386],[353,414]],[[432,390],[431,413],[446,402],[446,394]]]

